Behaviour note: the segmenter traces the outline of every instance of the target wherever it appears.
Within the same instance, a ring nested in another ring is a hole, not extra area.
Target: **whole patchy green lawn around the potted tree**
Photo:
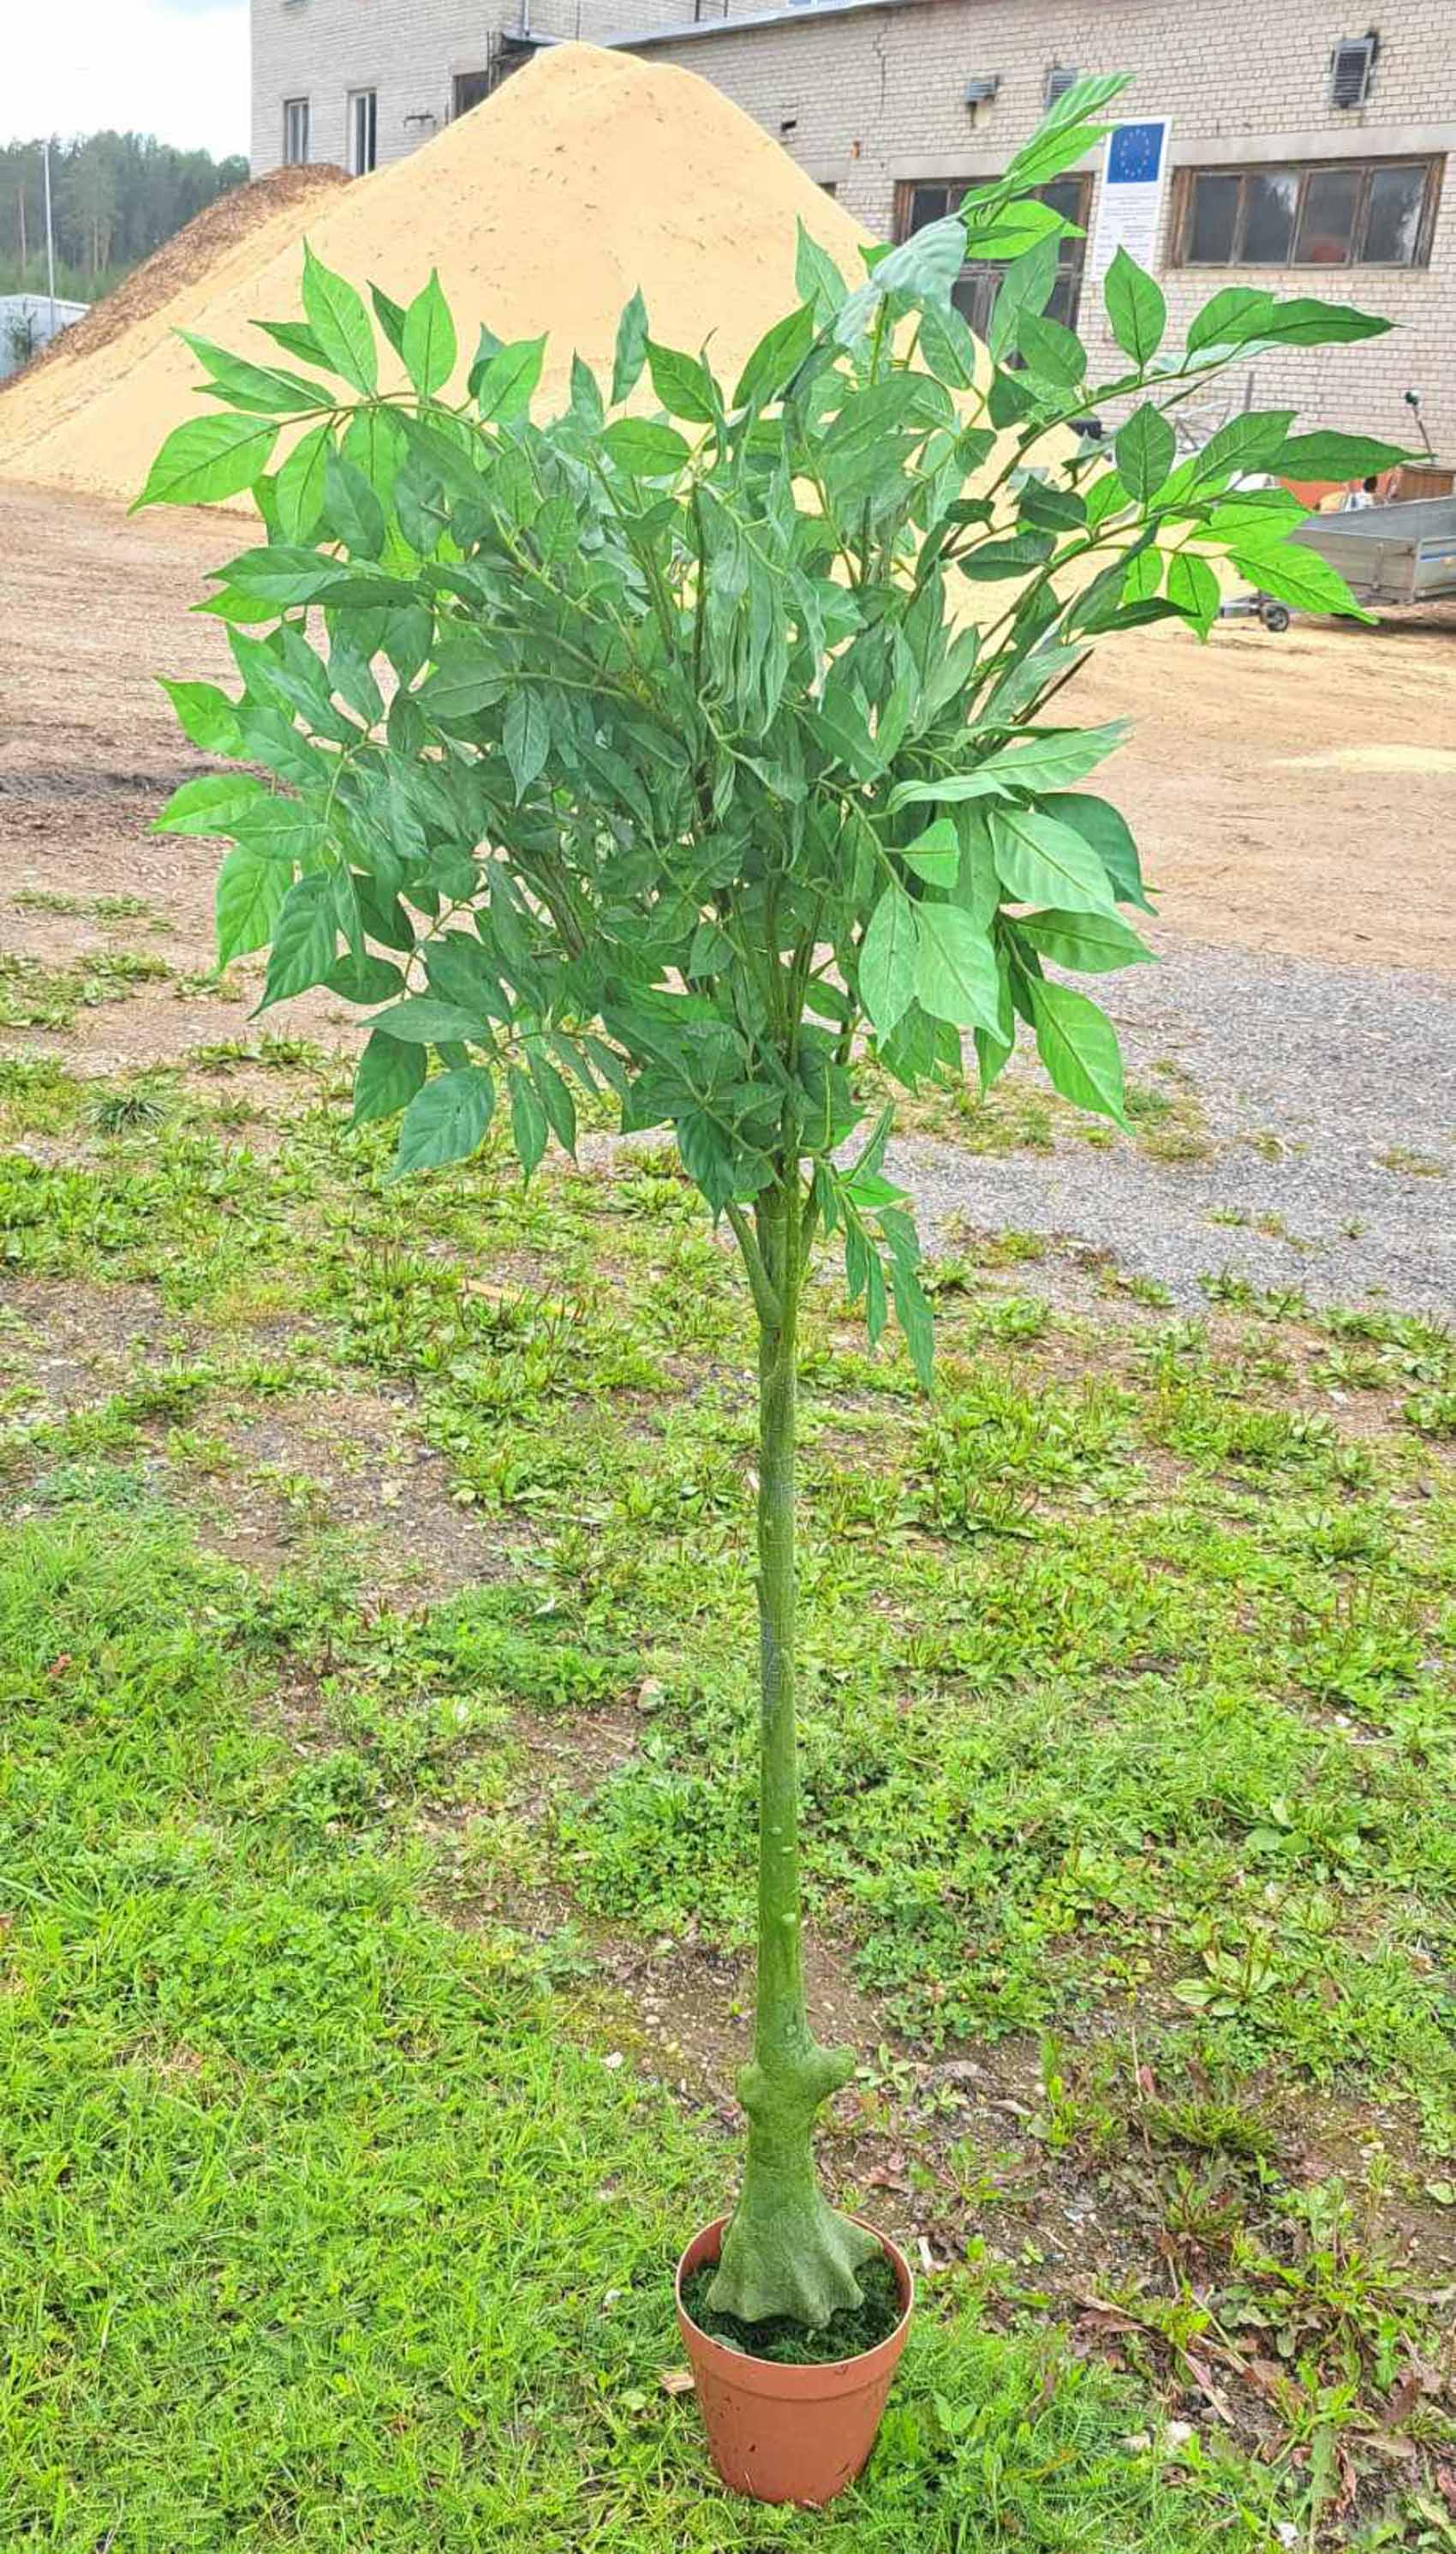
[[[1448,1336],[978,1236],[925,1405],[825,1274],[828,2163],[927,2276],[784,2518],[659,2383],[736,2153],[746,1305],[667,1157],[383,1162],[289,1042],[0,1065],[0,2541],[1456,2544]]]

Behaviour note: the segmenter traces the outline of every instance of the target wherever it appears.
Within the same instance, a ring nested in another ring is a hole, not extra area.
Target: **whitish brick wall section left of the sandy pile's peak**
[[[677,26],[682,0],[531,0],[542,36],[600,41]],[[284,158],[284,100],[309,100],[309,158],[347,169],[350,89],[378,92],[378,163],[404,158],[450,120],[457,72],[483,72],[490,36],[521,23],[519,0],[253,0],[253,176]]]

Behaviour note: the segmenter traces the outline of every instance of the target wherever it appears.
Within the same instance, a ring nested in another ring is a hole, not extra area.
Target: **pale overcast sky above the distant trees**
[[[248,0],[5,0],[0,140],[156,133],[248,151]]]

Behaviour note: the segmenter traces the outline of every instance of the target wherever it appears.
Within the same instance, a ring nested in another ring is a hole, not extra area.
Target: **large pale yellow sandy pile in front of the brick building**
[[[324,266],[396,301],[437,266],[462,360],[483,319],[498,337],[549,329],[552,406],[572,350],[610,368],[636,286],[654,337],[700,347],[713,329],[733,378],[794,301],[794,217],[861,273],[866,232],[705,79],[559,46],[424,151],[291,202],[110,342],[23,378],[0,401],[0,475],[133,498],[163,434],[197,411],[202,375],[174,332],[268,360],[248,322],[299,317],[304,227]]]

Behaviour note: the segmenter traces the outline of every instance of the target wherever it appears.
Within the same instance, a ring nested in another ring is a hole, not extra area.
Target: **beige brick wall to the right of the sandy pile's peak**
[[[728,15],[751,18],[748,0]],[[1035,128],[1052,64],[1132,72],[1126,112],[1172,117],[1172,166],[1221,158],[1341,158],[1405,151],[1456,156],[1456,0],[1384,0],[1369,102],[1328,105],[1328,59],[1369,13],[1344,0],[902,0],[779,26],[728,26],[644,49],[679,61],[743,105],[848,212],[889,235],[894,189],[909,176],[989,176]],[[641,20],[651,26],[651,20]],[[999,74],[991,107],[966,107],[966,82]],[[784,130],[789,128],[789,130]],[[1093,202],[1096,222],[1096,202]],[[1415,271],[1218,271],[1160,276],[1183,324],[1221,283],[1359,301],[1400,322],[1364,347],[1270,358],[1259,398],[1295,404],[1310,424],[1405,439],[1407,386],[1456,462],[1456,169],[1436,217],[1430,266]],[[1101,296],[1083,291],[1081,332],[1106,347]]]

